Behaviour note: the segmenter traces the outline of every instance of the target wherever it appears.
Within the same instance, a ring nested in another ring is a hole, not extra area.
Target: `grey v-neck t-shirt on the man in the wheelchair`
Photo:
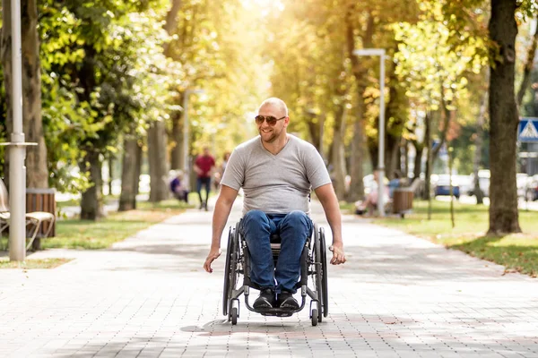
[[[331,183],[323,159],[308,141],[289,134],[290,141],[274,156],[260,136],[240,144],[230,156],[221,184],[245,193],[243,215],[249,210],[287,214],[310,213],[310,189]]]

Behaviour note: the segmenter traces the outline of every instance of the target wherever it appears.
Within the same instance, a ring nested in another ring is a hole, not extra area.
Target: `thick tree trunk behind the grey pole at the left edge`
[[[2,64],[4,70],[5,101],[7,108],[6,130],[13,132],[12,107],[12,21],[11,2],[3,2]],[[41,64],[39,61],[38,11],[35,0],[21,1],[22,26],[22,131],[25,141],[38,143],[28,147],[25,166],[26,185],[31,188],[48,188],[47,147],[41,119]],[[9,134],[8,134],[9,135]],[[9,139],[9,138],[8,138]],[[9,158],[5,160],[9,173]],[[9,185],[9,183],[6,183]]]

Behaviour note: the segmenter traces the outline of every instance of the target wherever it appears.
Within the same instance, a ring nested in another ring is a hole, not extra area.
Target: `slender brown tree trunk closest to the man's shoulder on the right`
[[[331,149],[331,164],[333,165],[333,185],[336,197],[339,200],[345,198],[345,150],[343,145],[343,133],[345,132],[345,121],[347,111],[345,103],[334,111],[334,135]]]

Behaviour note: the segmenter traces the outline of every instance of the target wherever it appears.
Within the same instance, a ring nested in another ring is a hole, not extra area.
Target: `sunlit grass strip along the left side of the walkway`
[[[137,209],[112,212],[97,221],[63,219],[56,222],[56,237],[41,241],[41,247],[66,249],[106,249],[138,231],[181,214],[189,208],[178,200],[164,200],[153,204],[137,202]]]

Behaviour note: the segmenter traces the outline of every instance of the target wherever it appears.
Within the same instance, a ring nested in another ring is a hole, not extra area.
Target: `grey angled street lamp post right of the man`
[[[377,153],[377,211],[380,217],[385,217],[385,49],[362,48],[353,51],[353,55],[367,56],[378,55],[380,58],[379,68],[379,141]]]

